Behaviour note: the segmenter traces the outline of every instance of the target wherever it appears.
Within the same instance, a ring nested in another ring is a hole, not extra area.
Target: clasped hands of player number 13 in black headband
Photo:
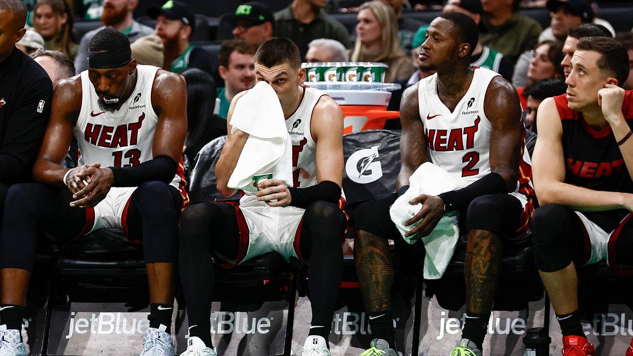
[[[70,203],[70,206],[92,208],[110,191],[114,182],[112,170],[101,168],[101,163],[82,165],[74,169],[77,172],[70,172],[65,181],[66,186],[73,193],[73,199],[76,199]]]

